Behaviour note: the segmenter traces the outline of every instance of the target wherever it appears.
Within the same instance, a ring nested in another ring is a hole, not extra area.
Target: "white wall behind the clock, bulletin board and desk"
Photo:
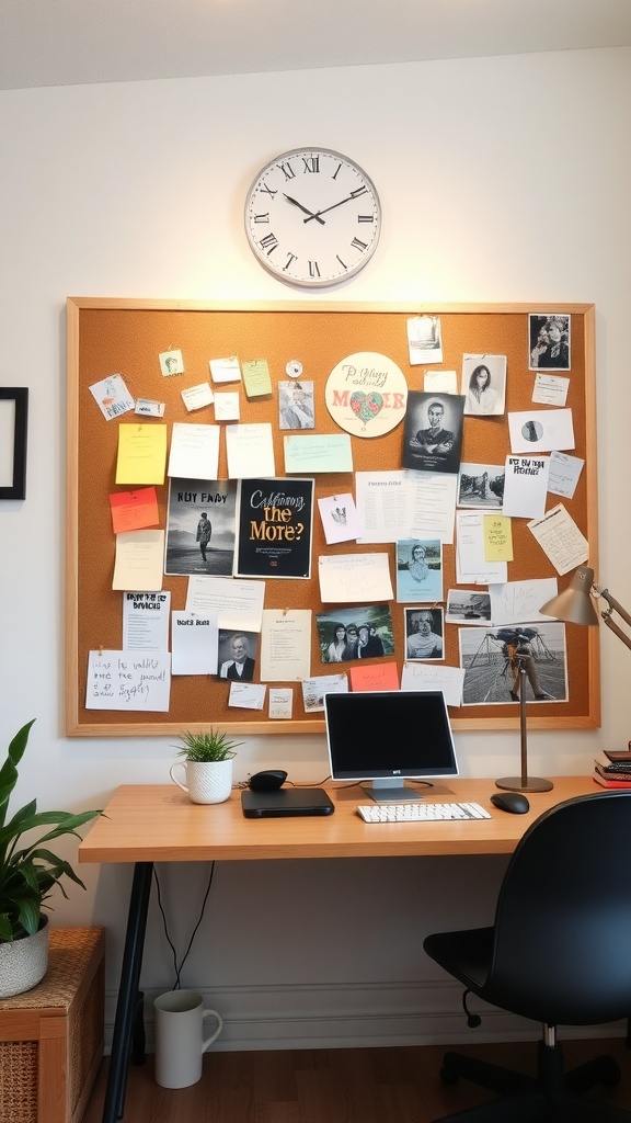
[[[170,738],[63,736],[65,298],[295,299],[243,230],[252,179],[285,149],[346,153],[381,194],[377,253],[331,300],[595,303],[602,575],[625,599],[630,125],[628,48],[0,93],[0,384],[30,389],[27,500],[0,504],[0,736],[37,718],[25,800],[99,806],[118,784],[165,782],[174,756]],[[587,773],[600,746],[627,743],[629,655],[602,646],[602,730],[532,733],[533,773]],[[512,732],[457,745],[466,775],[516,764]],[[253,738],[237,763],[327,772],[320,737]],[[228,1015],[223,1047],[461,1030],[420,943],[484,921],[502,860],[256,867],[218,868],[183,976]],[[108,925],[111,1020],[130,871],[83,869],[89,892],[55,920]],[[204,876],[163,875],[181,949]],[[144,983],[172,983],[153,911]]]

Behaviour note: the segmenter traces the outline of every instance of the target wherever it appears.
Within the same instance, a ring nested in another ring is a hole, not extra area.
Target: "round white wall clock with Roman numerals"
[[[308,289],[339,284],[373,256],[381,206],[357,164],[328,148],[271,161],[246,199],[250,248],[275,277]]]

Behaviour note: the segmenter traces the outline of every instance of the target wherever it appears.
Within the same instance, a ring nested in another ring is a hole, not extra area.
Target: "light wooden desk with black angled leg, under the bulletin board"
[[[194,804],[173,784],[119,787],[79,846],[80,862],[134,862],[127,935],[112,1038],[103,1123],[122,1117],[134,1006],[140,983],[147,910],[156,861],[260,861],[283,858],[397,858],[512,853],[527,828],[549,807],[600,791],[587,776],[561,776],[551,792],[530,795],[530,811],[511,815],[488,802],[492,779],[447,780],[438,802],[475,801],[492,819],[433,823],[364,823],[355,813],[362,789],[328,787],[332,815],[245,819],[240,794]],[[451,794],[452,793],[452,794]]]

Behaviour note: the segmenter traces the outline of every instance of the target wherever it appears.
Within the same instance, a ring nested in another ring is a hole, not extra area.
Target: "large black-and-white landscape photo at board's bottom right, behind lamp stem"
[[[525,672],[525,701],[567,702],[565,624],[505,624],[458,629],[460,667],[465,672],[463,705],[506,705],[520,701]]]

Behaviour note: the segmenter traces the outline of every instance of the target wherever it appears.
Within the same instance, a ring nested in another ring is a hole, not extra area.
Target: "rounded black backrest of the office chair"
[[[631,1015],[631,789],[567,800],[527,831],[504,876],[487,985],[550,1024]]]

